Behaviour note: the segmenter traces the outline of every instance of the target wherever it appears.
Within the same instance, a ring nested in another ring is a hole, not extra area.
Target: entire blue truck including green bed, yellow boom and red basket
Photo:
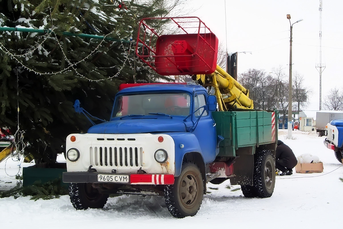
[[[187,23],[185,34],[162,36],[147,20],[140,28],[151,31],[138,31],[137,56],[161,75],[191,75],[200,85],[126,85],[108,122],[89,119],[86,134],[69,135],[63,182],[74,208],[102,208],[113,193],[154,194],[165,197],[174,217],[194,216],[206,183],[228,179],[246,197],[270,197],[277,112],[253,110],[249,90],[216,65],[218,39],[200,33],[199,18],[191,18],[198,34],[186,32]],[[185,25],[179,20],[173,18],[178,28]],[[74,108],[89,116],[79,101]]]

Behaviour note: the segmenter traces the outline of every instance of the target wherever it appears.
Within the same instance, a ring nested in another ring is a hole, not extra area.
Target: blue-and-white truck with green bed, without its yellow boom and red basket
[[[207,182],[227,179],[247,197],[271,196],[275,112],[215,112],[216,107],[216,97],[200,85],[121,90],[110,121],[67,137],[63,182],[70,183],[73,206],[102,208],[111,193],[149,192],[164,195],[170,213],[182,218],[197,213]],[[84,112],[78,102],[75,110]],[[254,163],[264,171],[259,176]]]

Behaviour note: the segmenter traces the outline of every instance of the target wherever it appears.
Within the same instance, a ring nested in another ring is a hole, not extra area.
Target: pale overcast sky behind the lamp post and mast
[[[284,67],[289,76],[290,25],[293,25],[293,75],[304,75],[305,83],[313,90],[305,110],[319,110],[319,0],[190,0],[198,16],[224,43],[229,53],[238,54],[238,74],[249,68]],[[226,5],[226,7],[225,7]],[[322,1],[322,98],[330,89],[343,89],[343,1]],[[226,15],[226,23],[225,23]],[[227,33],[225,34],[225,27]]]

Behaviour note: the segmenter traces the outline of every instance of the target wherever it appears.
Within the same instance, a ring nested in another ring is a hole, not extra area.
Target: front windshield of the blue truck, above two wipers
[[[157,113],[187,116],[189,112],[190,95],[187,93],[122,95],[116,100],[112,118]]]

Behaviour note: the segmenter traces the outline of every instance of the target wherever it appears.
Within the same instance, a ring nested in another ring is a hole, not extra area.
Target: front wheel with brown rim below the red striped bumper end
[[[164,197],[170,214],[176,218],[197,214],[204,195],[201,172],[194,163],[183,163],[180,176],[173,185],[166,185]]]

